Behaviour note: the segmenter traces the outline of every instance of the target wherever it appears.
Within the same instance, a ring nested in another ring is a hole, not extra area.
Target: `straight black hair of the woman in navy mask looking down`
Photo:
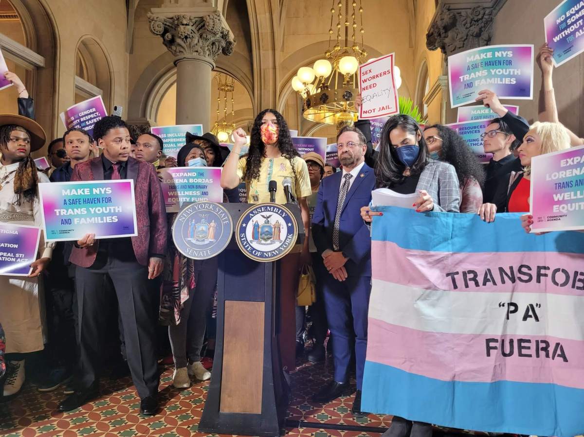
[[[377,187],[390,187],[394,183],[401,183],[406,178],[403,174],[405,165],[399,160],[395,152],[395,146],[391,144],[390,140],[390,133],[396,128],[401,128],[414,137],[420,132],[420,139],[418,141],[420,153],[416,162],[409,169],[410,174],[422,173],[422,170],[428,163],[428,148],[418,123],[412,117],[406,116],[405,114],[393,116],[385,122],[383,131],[381,131],[379,156],[374,168]]]

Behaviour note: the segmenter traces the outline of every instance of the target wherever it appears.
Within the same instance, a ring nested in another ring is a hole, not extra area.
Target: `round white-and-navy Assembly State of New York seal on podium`
[[[298,224],[288,208],[259,204],[241,215],[235,231],[239,249],[252,260],[267,263],[290,252],[298,237]]]

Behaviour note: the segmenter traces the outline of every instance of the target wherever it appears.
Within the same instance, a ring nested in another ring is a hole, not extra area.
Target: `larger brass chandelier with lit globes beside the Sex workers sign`
[[[367,58],[363,43],[362,0],[359,0],[359,8],[356,0],[344,1],[343,8],[343,0],[332,0],[329,47],[325,58],[314,62],[312,68],[299,68],[291,82],[302,99],[304,118],[315,123],[335,124],[339,128],[357,120],[354,100],[359,95],[359,82],[356,72],[359,64]],[[336,40],[333,40],[335,26]]]

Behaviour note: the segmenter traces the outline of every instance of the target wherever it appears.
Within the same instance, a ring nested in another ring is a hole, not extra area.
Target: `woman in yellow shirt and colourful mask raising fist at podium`
[[[270,181],[277,182],[276,203],[285,204],[286,194],[282,182],[289,178],[292,192],[298,200],[305,238],[302,248],[295,247],[282,259],[280,296],[280,351],[284,370],[294,370],[296,351],[296,291],[298,288],[298,267],[310,263],[308,233],[310,215],[307,198],[312,194],[308,167],[294,148],[286,120],[278,111],[263,110],[256,117],[249,145],[248,156],[239,158],[242,146],[246,144],[246,134],[242,128],[233,133],[234,146],[225,160],[221,172],[221,187],[235,188],[245,182],[248,203],[267,203]]]

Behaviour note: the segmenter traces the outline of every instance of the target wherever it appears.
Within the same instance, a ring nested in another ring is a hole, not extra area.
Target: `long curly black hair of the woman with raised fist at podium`
[[[292,167],[294,177],[296,177],[296,170],[294,169],[292,160],[295,156],[300,156],[300,153],[298,153],[296,148],[294,148],[294,144],[292,144],[292,138],[290,137],[288,124],[286,123],[286,120],[284,120],[282,114],[280,114],[278,111],[273,109],[265,109],[260,112],[255,118],[255,121],[253,121],[251,138],[249,140],[249,154],[245,162],[246,165],[243,178],[248,182],[259,179],[259,168],[262,165],[262,159],[266,156],[266,145],[263,144],[260,128],[262,127],[263,116],[269,112],[276,116],[276,121],[279,128],[278,149],[280,150],[282,156],[290,161],[290,166]]]

